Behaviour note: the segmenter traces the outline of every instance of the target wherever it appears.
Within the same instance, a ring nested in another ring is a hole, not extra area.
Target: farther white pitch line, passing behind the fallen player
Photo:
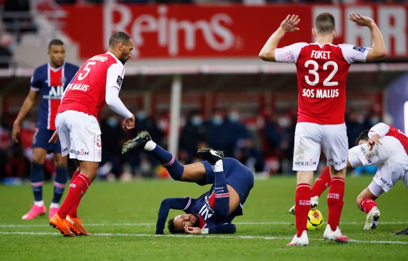
[[[295,222],[234,222],[236,225],[291,225]],[[363,222],[341,222],[340,224],[363,224]],[[408,222],[380,222],[381,225],[407,224]],[[84,224],[84,226],[153,226],[156,223],[112,223],[112,224]],[[42,227],[47,224],[3,224],[0,227]]]

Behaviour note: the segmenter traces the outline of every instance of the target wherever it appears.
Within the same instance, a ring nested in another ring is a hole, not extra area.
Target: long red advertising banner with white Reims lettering
[[[408,5],[92,5],[62,6],[63,31],[86,59],[107,50],[117,31],[131,35],[135,58],[256,57],[287,14],[298,14],[300,31],[281,46],[312,42],[314,17],[336,18],[336,43],[371,46],[370,32],[347,19],[351,12],[372,17],[386,42],[388,57],[408,59]]]

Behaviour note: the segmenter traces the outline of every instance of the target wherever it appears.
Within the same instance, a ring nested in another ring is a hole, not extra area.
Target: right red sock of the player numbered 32
[[[343,209],[344,179],[331,179],[330,189],[327,193],[328,218],[327,224],[331,230],[335,231],[340,222],[341,211]]]

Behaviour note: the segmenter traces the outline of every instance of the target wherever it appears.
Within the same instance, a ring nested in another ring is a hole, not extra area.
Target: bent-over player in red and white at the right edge
[[[408,187],[408,138],[402,131],[385,123],[378,123],[363,131],[355,141],[357,146],[348,151],[347,168],[377,166],[373,181],[356,198],[357,206],[367,214],[364,229],[375,229],[380,212],[375,199],[402,180]],[[375,146],[375,144],[377,144]],[[319,196],[330,186],[328,167],[316,179],[311,193],[311,204],[319,204]],[[294,207],[289,213],[294,214]]]

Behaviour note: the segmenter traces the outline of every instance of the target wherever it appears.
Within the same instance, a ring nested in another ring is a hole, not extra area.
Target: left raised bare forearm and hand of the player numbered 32
[[[295,27],[300,22],[300,18],[296,15],[288,15],[285,20],[282,21],[281,26],[269,37],[264,47],[259,52],[259,57],[268,62],[276,62],[275,49],[285,36],[286,32],[298,31],[299,28]]]

